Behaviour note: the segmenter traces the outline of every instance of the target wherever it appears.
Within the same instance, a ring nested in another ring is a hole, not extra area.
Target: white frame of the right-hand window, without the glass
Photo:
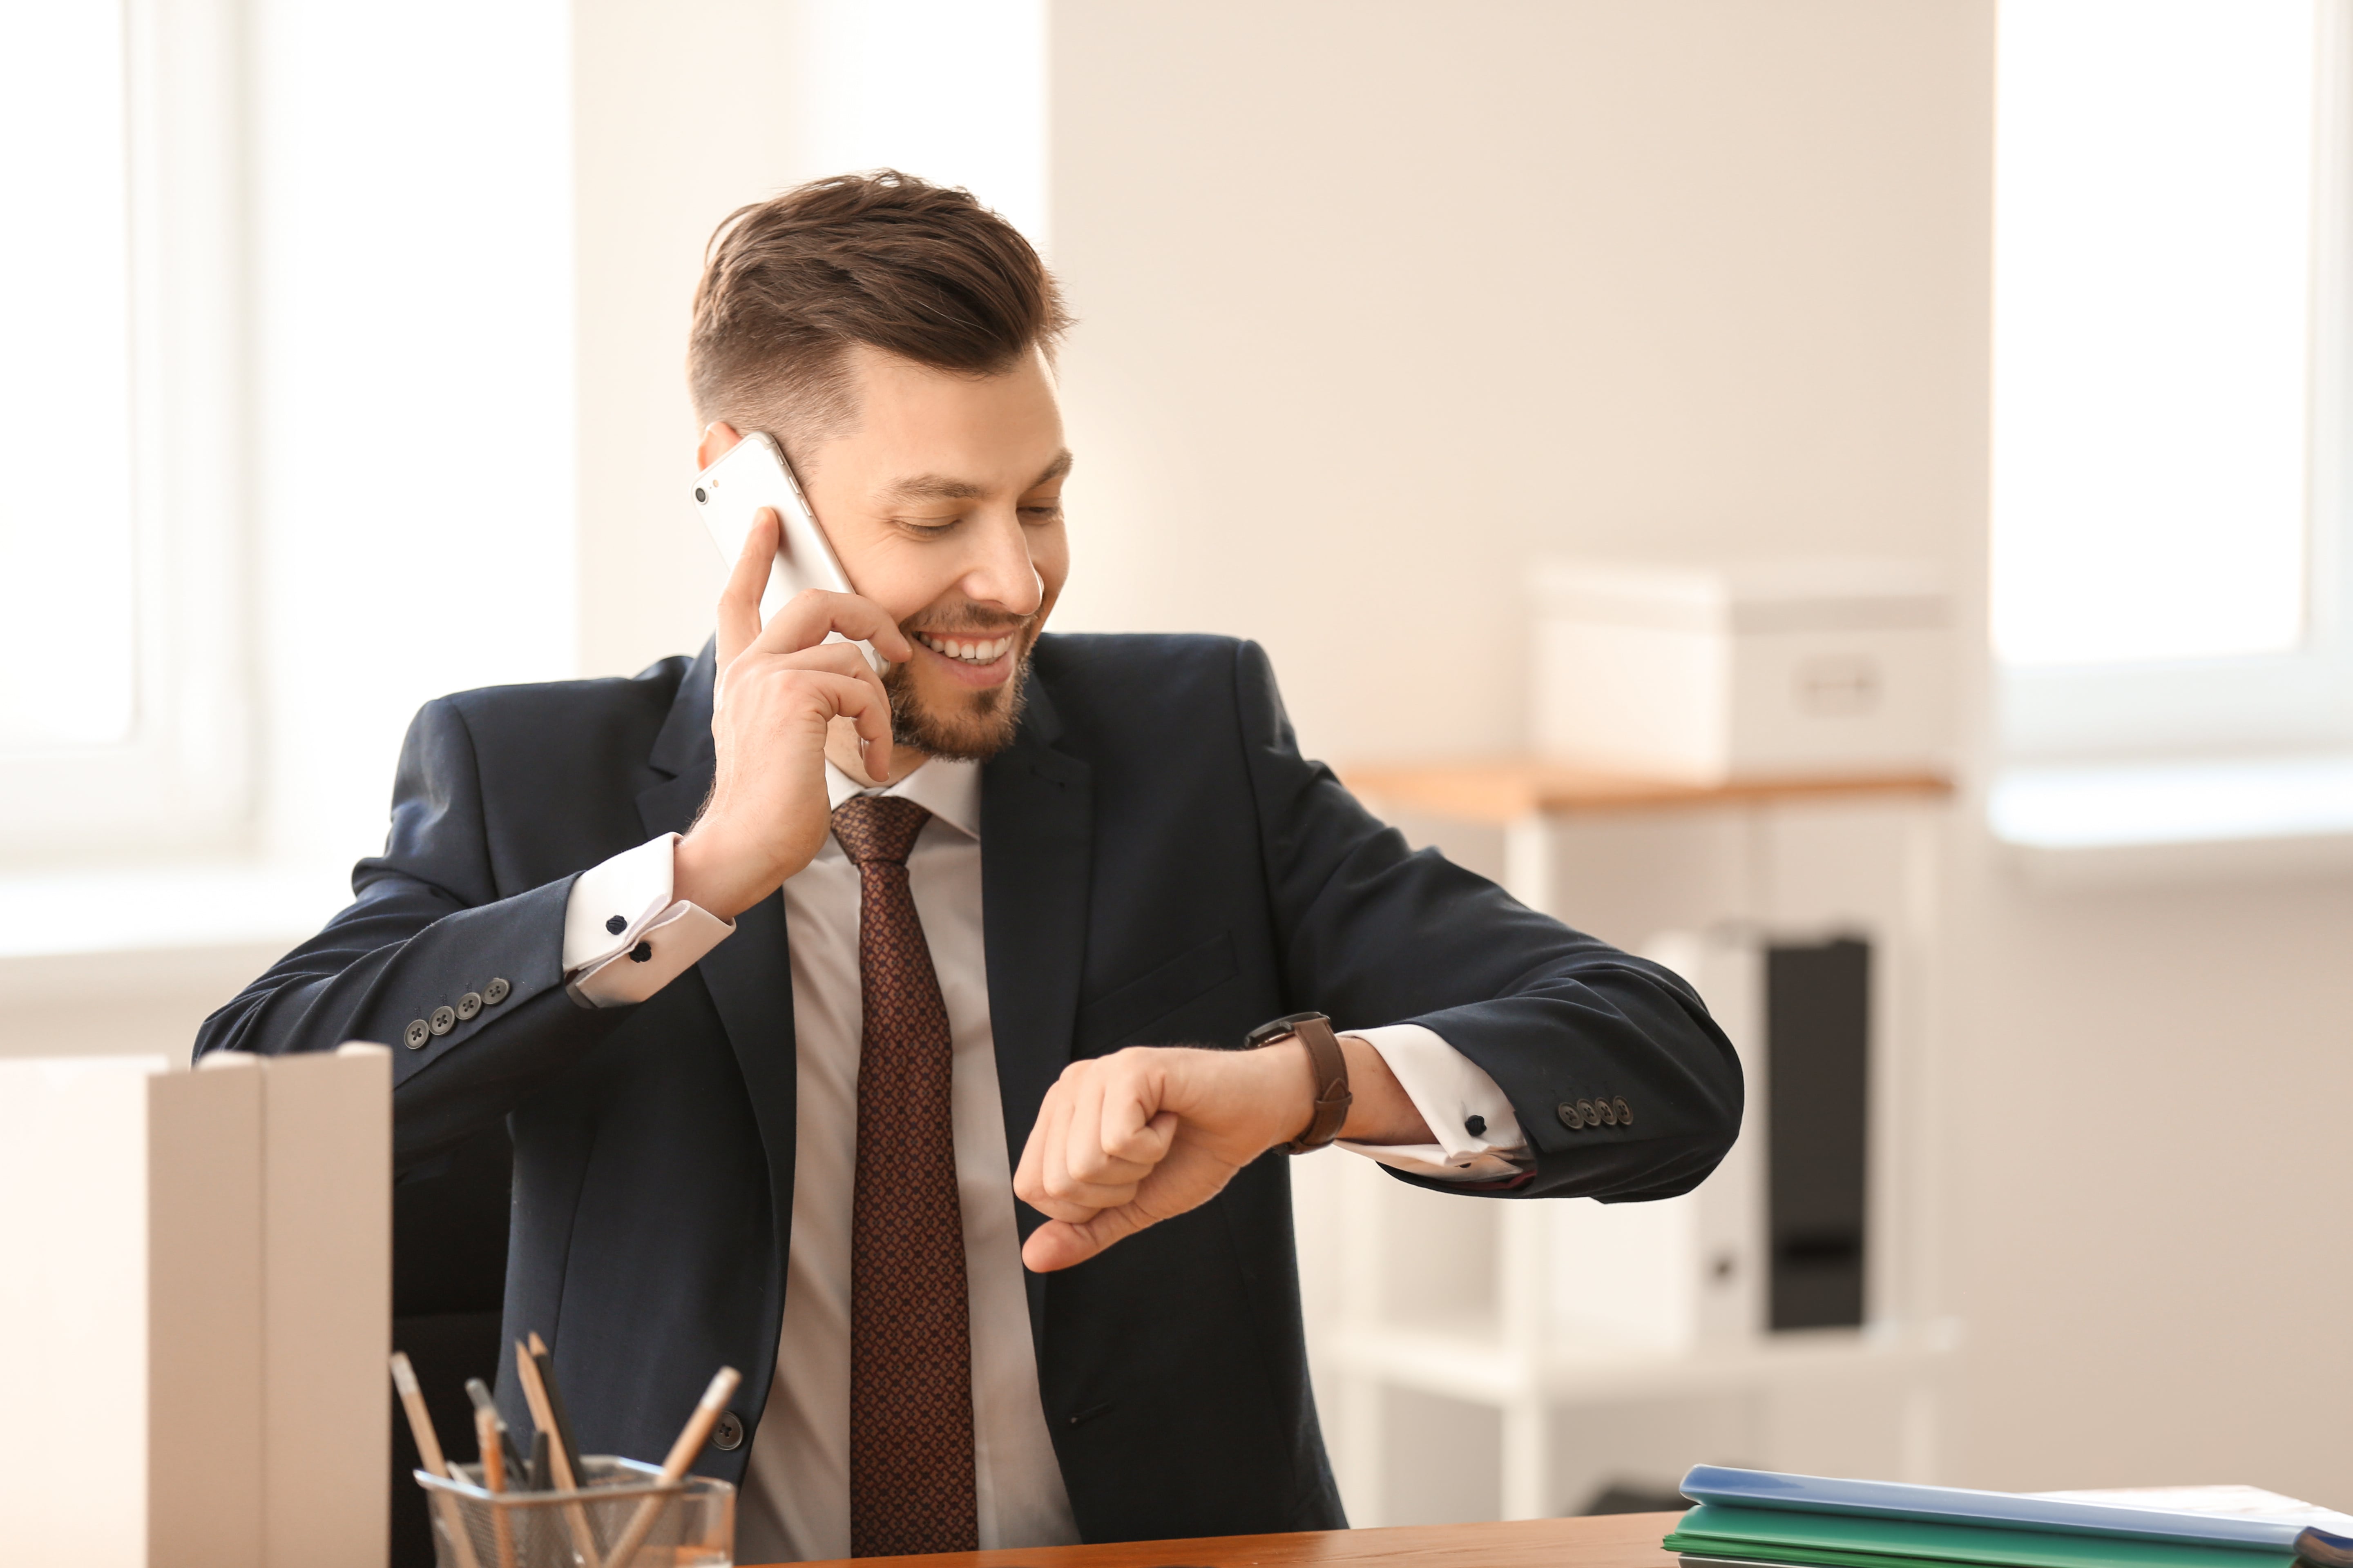
[[[2240,658],[1995,665],[2005,762],[2353,748],[2353,0],[2320,0],[2315,66],[2304,642]]]

